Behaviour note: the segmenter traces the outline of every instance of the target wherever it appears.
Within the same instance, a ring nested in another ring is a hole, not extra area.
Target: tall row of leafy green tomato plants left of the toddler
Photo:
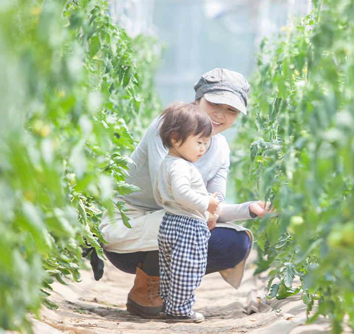
[[[156,60],[107,12],[103,0],[0,4],[0,329],[30,332],[27,311],[56,307],[53,279],[80,280],[86,243],[104,258],[102,210],[124,215],[112,197],[138,190],[126,124],[158,103],[139,87]]]

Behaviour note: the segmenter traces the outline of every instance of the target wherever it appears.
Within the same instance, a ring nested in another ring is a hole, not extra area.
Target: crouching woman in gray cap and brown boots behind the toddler
[[[218,193],[219,212],[208,221],[211,236],[208,242],[206,274],[219,271],[236,289],[243,277],[245,261],[253,243],[248,229],[231,223],[257,216],[263,217],[269,207],[263,201],[225,204],[230,148],[221,132],[235,122],[238,113],[246,114],[250,85],[244,77],[227,69],[216,68],[195,84],[195,103],[209,115],[212,137],[204,156],[195,163],[202,174],[209,194]],[[155,172],[167,150],[157,135],[157,119],[149,126],[131,158],[128,183],[138,186],[135,192],[117,200],[126,201],[132,228],[126,228],[117,211],[113,217],[104,215],[100,228],[106,240],[104,252],[110,262],[126,273],[136,273],[134,286],[128,294],[127,310],[144,318],[161,318],[159,297],[159,263],[157,233],[165,211],[153,196]]]

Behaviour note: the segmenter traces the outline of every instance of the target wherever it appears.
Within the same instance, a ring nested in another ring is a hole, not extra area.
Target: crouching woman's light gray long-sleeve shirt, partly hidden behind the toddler
[[[156,169],[167,155],[167,149],[163,147],[158,136],[158,119],[154,119],[137,148],[131,155],[131,159],[137,167],[129,164],[130,177],[127,183],[141,189],[125,195],[129,205],[144,210],[160,210],[162,207],[156,203],[153,195],[153,186],[156,178]],[[220,201],[218,222],[230,222],[252,219],[249,214],[250,202],[242,204],[225,204],[226,182],[230,167],[230,148],[224,136],[217,134],[211,137],[210,147],[207,152],[193,165],[201,173],[204,184],[209,194],[218,193]]]

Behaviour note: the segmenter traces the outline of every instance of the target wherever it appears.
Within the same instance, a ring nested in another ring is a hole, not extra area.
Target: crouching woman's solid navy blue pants
[[[210,233],[207,252],[207,273],[213,272],[212,270],[208,270],[210,266],[219,268],[219,270],[234,268],[245,258],[251,247],[251,241],[245,231],[236,231],[233,228],[227,227],[215,227]],[[140,263],[144,263],[148,254],[147,251],[136,251],[133,253],[104,252],[107,259],[116,268],[128,274],[136,274],[137,266]],[[159,266],[158,256],[156,257],[155,266],[156,268]]]

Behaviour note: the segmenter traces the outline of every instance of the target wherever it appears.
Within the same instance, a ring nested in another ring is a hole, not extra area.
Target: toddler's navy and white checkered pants
[[[207,223],[165,213],[158,233],[160,297],[166,312],[189,315],[207,266]]]

